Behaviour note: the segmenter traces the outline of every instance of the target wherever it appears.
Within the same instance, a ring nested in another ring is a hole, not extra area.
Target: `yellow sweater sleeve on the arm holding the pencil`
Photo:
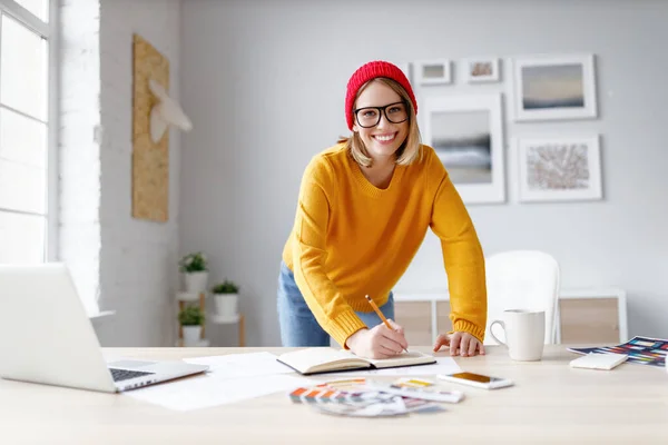
[[[342,347],[347,348],[347,338],[366,325],[347,304],[325,269],[325,241],[335,187],[324,169],[322,164],[312,162],[302,179],[294,228],[293,271],[297,287],[318,324]]]

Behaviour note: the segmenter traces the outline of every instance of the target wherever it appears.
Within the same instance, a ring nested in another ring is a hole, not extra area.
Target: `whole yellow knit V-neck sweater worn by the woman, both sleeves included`
[[[396,166],[374,187],[343,145],[315,156],[304,172],[283,259],[315,318],[340,345],[366,327],[358,312],[387,301],[428,227],[441,239],[453,330],[484,337],[484,257],[458,191],[433,148]]]

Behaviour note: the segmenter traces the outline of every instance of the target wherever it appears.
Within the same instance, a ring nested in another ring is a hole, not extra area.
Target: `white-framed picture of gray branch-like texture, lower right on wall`
[[[599,136],[517,138],[520,201],[601,199]]]

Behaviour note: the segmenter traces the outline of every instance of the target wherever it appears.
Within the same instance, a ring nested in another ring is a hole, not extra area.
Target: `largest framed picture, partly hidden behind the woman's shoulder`
[[[423,132],[466,204],[505,201],[501,95],[428,97]]]

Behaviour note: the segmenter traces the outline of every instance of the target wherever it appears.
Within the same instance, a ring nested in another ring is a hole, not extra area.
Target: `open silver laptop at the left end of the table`
[[[0,265],[0,377],[118,393],[207,368],[185,362],[107,363],[63,264]]]

